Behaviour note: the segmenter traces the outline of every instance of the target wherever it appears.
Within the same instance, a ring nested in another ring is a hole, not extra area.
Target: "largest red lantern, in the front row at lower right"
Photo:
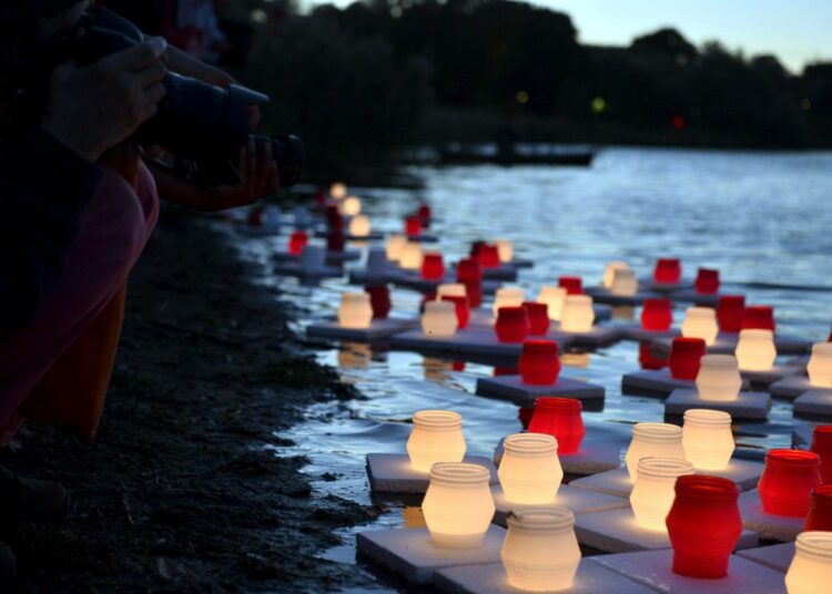
[[[676,480],[667,520],[673,572],[700,580],[728,575],[728,560],[742,532],[733,481],[689,474]]]

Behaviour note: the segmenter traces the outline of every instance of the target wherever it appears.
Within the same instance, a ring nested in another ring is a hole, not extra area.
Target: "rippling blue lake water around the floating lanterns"
[[[507,237],[516,253],[537,263],[517,283],[536,295],[561,274],[596,284],[609,260],[626,260],[643,274],[657,256],[682,258],[721,270],[723,287],[747,295],[749,303],[775,307],[779,329],[810,339],[825,338],[832,321],[832,154],[754,154],[672,150],[606,150],[591,168],[450,167],[415,170],[427,188],[419,193],[358,190],[375,229],[396,231],[420,199],[438,223],[446,262],[465,254],[474,239]],[[285,238],[241,239],[263,262]],[[298,331],[331,317],[342,280],[303,287],[274,278],[284,298],[301,304]],[[355,290],[354,288],[351,290]],[[419,296],[395,290],[397,310],[415,313]],[[676,319],[681,321],[681,309]],[[636,313],[638,314],[638,311]],[[304,454],[312,478],[334,472],[334,482],[315,481],[321,495],[334,493],[368,503],[364,455],[404,452],[412,413],[423,408],[451,409],[464,418],[468,451],[490,455],[497,441],[521,429],[514,404],[474,395],[477,377],[493,368],[410,352],[371,350],[366,345],[333,345],[318,352],[355,383],[366,400],[312,406],[306,421],[283,434],[296,442],[287,454]],[[638,345],[619,342],[564,361],[564,375],[601,383],[603,411],[586,412],[590,433],[601,432],[622,447],[629,423],[663,420],[662,401],[621,396],[621,375],[638,368]],[[787,402],[775,402],[769,422],[735,427],[745,453],[789,447],[792,418]],[[404,525],[414,510],[395,499],[375,523]],[[418,515],[416,513],[416,515]],[[327,559],[353,563],[354,533]],[[379,585],[379,588],[383,587]]]

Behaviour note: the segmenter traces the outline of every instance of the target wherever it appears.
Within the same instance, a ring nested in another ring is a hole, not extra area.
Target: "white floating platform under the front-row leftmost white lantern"
[[[434,574],[458,565],[484,565],[500,561],[505,529],[491,524],[483,544],[474,549],[447,549],[430,542],[426,528],[361,532],[358,553],[381,563],[412,584],[429,584]]]

